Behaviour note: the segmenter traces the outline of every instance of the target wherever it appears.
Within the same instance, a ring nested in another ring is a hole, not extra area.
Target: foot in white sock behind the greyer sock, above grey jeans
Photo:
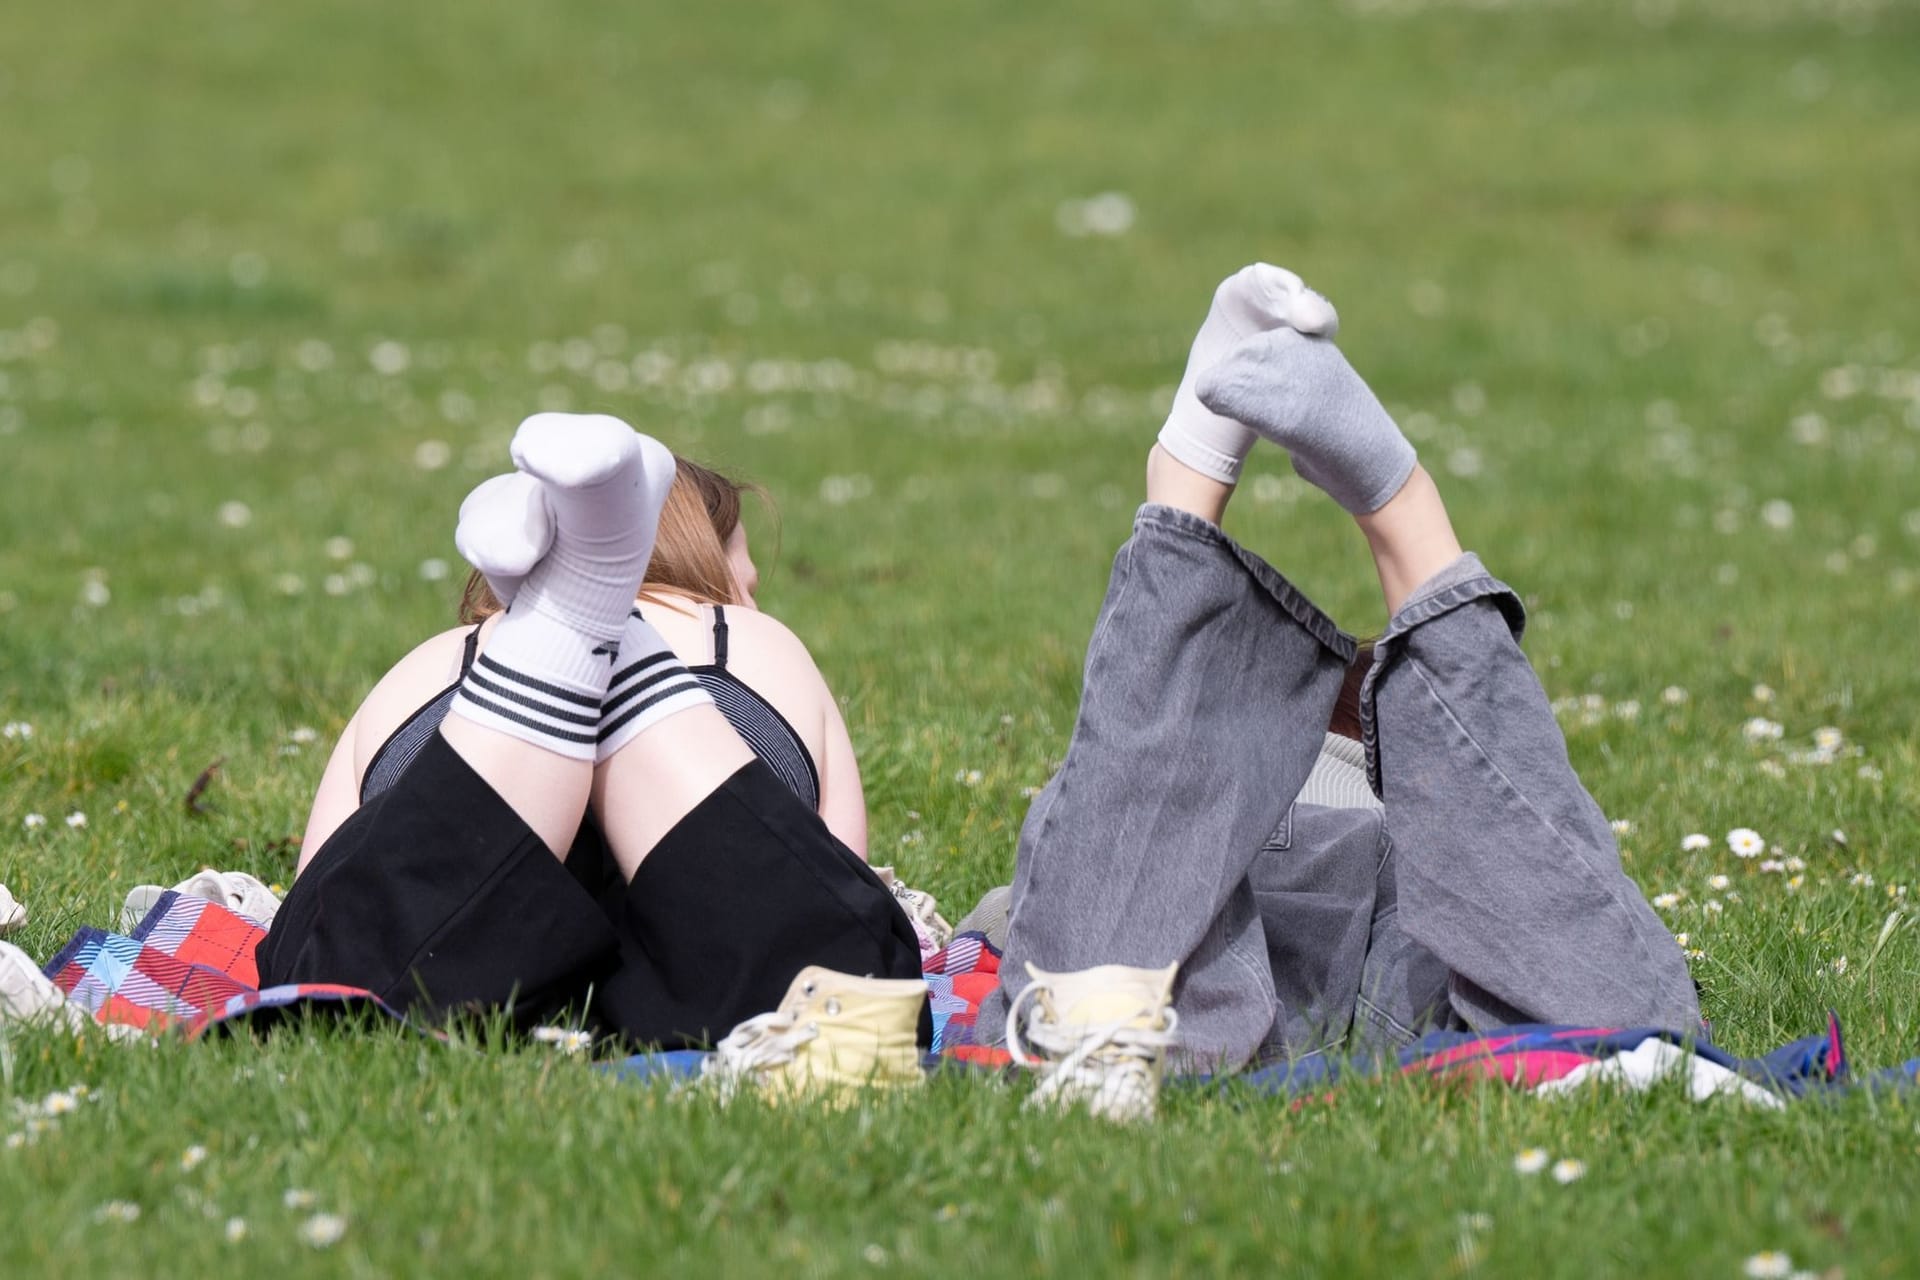
[[[1187,372],[1173,393],[1173,409],[1160,428],[1162,449],[1221,484],[1231,486],[1240,480],[1240,464],[1252,451],[1256,436],[1240,422],[1202,405],[1194,382],[1254,334],[1279,326],[1331,338],[1340,328],[1340,317],[1334,315],[1332,303],[1284,267],[1254,263],[1221,280],[1213,290],[1213,307],[1187,355]]]

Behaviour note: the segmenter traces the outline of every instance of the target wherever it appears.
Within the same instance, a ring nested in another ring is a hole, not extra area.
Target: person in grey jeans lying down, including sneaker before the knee
[[[1054,1063],[1037,1096],[1150,1111],[1164,1050],[1219,1071],[1430,1029],[1705,1036],[1519,649],[1519,597],[1461,549],[1334,330],[1292,273],[1231,276],[1148,451],[975,1025]],[[1354,754],[1327,729],[1357,647],[1219,528],[1260,439],[1373,551],[1390,620],[1357,727],[1379,806],[1304,793]]]

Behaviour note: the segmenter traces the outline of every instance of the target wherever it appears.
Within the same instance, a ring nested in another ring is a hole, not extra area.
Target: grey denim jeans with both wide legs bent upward
[[[1066,762],[1020,833],[975,1038],[1004,1038],[1027,963],[1169,961],[1187,1069],[1432,1027],[1701,1036],[1680,948],[1567,760],[1523,622],[1473,555],[1423,583],[1361,691],[1384,808],[1302,804],[1354,639],[1217,526],[1142,507]]]

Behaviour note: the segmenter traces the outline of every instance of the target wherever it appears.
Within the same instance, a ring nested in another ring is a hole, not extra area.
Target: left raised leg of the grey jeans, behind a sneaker
[[[1277,996],[1248,867],[1313,768],[1352,658],[1352,637],[1217,526],[1140,509],[1066,762],[1020,833],[981,1042],[1004,1036],[1029,961],[1179,961],[1187,1067],[1236,1065],[1267,1040]]]

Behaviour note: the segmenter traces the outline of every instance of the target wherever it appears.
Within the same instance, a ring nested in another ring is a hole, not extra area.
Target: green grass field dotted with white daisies
[[[10,6],[12,940],[290,877],[536,407],[776,495],[762,603],[843,695],[876,862],[956,915],[1066,748],[1208,294],[1265,257],[1526,593],[1718,1038],[1832,1007],[1912,1057],[1916,54],[1897,0]],[[1256,457],[1229,528],[1379,628],[1352,524]],[[1920,1274],[1912,1100],[1384,1082],[1117,1132],[979,1080],[718,1111],[474,1048],[0,1029],[0,1107],[92,1090],[0,1148],[0,1274]]]

